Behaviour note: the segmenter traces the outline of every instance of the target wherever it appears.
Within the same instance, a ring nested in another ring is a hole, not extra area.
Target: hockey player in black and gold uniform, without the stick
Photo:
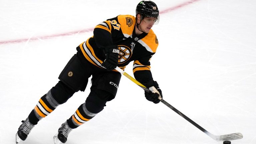
[[[73,129],[92,119],[103,110],[107,101],[115,98],[121,74],[133,61],[136,80],[148,88],[147,100],[159,103],[162,92],[150,71],[150,59],[155,54],[158,40],[152,26],[159,21],[159,10],[152,1],[141,1],[136,7],[136,17],[119,15],[97,25],[93,36],[81,43],[77,53],[69,60],[59,75],[60,81],[42,96],[29,116],[22,121],[16,133],[16,143],[26,140],[39,120],[65,103],[75,92],[84,91],[88,78],[92,86],[85,103],[67,119],[54,136],[54,143],[65,143]]]

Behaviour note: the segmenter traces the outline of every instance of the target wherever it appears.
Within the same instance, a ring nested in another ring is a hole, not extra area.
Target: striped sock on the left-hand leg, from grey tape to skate
[[[49,91],[40,98],[35,108],[30,112],[29,121],[36,125],[39,120],[53,112],[58,105],[60,104],[52,97],[51,91]]]

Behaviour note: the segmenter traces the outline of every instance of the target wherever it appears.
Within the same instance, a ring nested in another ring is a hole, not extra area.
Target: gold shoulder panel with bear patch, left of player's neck
[[[136,23],[135,17],[132,15],[119,15],[117,18],[119,24],[121,25],[123,35],[127,38],[130,37]]]

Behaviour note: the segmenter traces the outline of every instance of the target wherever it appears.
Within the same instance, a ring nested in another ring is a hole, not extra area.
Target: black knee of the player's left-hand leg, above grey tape
[[[59,104],[67,102],[67,100],[75,93],[71,88],[59,81],[51,90],[51,95]]]

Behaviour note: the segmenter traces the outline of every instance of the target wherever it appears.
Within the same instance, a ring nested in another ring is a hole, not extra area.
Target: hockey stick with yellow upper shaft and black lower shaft
[[[131,81],[133,81],[134,83],[136,83],[138,86],[140,86],[141,88],[143,88],[146,92],[150,92],[150,90],[148,88],[146,88],[143,84],[141,84],[140,82],[138,82],[136,79],[134,79],[133,77],[131,77],[130,75],[128,75],[126,72],[124,72],[122,69],[120,69],[119,67],[115,68],[118,72],[120,72],[121,74],[123,74],[124,76],[126,76],[128,79],[130,79]],[[237,140],[237,139],[241,139],[243,138],[243,135],[241,133],[232,133],[232,134],[227,134],[227,135],[213,135],[210,132],[208,132],[207,130],[205,130],[204,128],[202,128],[200,125],[198,125],[197,123],[195,123],[193,120],[191,120],[190,118],[188,118],[187,116],[185,116],[183,113],[181,113],[179,110],[177,110],[176,108],[174,108],[172,105],[170,105],[168,102],[166,102],[165,100],[163,100],[162,98],[159,98],[160,101],[165,104],[167,107],[169,107],[170,109],[172,109],[173,111],[175,111],[177,114],[179,114],[181,117],[183,117],[184,119],[186,119],[188,122],[190,122],[191,124],[193,124],[195,127],[197,127],[198,129],[200,129],[202,132],[204,132],[205,134],[207,134],[208,136],[210,136],[212,139],[214,139],[215,141],[230,141],[230,140]]]

